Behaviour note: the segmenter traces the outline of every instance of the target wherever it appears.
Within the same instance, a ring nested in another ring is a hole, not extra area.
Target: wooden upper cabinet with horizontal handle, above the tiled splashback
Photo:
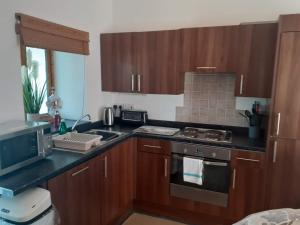
[[[235,73],[238,26],[182,29],[182,70]]]

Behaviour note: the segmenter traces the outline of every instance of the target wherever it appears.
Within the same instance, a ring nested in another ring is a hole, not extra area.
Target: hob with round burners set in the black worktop
[[[232,133],[227,130],[214,130],[195,127],[186,127],[175,135],[178,138],[199,140],[217,143],[231,143]]]

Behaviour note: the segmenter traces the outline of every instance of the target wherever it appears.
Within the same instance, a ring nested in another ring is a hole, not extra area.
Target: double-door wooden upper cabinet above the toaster
[[[102,90],[183,93],[179,31],[101,35]]]

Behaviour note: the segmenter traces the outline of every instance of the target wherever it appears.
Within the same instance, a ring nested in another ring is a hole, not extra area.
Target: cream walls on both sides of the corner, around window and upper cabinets
[[[90,32],[86,59],[86,109],[93,120],[104,105],[134,104],[150,118],[175,119],[183,96],[127,95],[101,92],[99,33],[238,24],[275,20],[279,14],[300,13],[298,0],[2,0],[0,3],[0,122],[22,119],[19,44],[15,12],[27,13]],[[243,105],[243,104],[239,104]]]

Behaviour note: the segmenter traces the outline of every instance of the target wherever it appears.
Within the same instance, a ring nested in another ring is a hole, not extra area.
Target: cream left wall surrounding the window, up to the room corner
[[[2,0],[0,3],[0,122],[23,119],[20,47],[14,31],[15,12],[22,12],[90,32],[86,58],[86,109],[94,120],[105,104],[101,93],[99,34],[112,27],[111,0]]]

